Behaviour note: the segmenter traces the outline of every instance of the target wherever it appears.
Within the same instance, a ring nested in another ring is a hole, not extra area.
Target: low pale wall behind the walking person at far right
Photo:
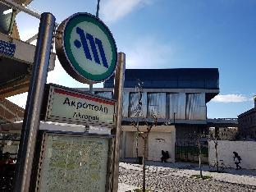
[[[209,163],[213,164],[216,161],[215,148],[213,141],[210,141],[208,148],[208,160]],[[219,160],[223,160],[226,167],[234,167],[234,154],[237,152],[242,161],[240,166],[245,169],[256,169],[256,142],[254,141],[227,141],[218,140],[217,141],[217,155]],[[219,161],[221,164],[221,162]]]

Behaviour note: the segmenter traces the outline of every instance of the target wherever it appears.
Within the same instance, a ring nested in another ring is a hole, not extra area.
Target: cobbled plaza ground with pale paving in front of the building
[[[129,191],[142,186],[141,167],[138,164],[120,163],[118,191]],[[193,174],[199,174],[199,171],[193,167],[148,166],[146,172],[147,189],[152,191],[256,191],[256,176],[254,174],[252,174],[254,176],[216,172],[212,174],[203,171],[204,175],[211,175],[213,179],[201,180],[190,178]],[[236,181],[240,184],[235,183]],[[249,183],[242,184],[243,182]]]

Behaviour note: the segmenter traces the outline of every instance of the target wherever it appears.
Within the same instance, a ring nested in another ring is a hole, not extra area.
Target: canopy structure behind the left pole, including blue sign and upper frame
[[[2,0],[0,7],[4,9],[9,7],[10,10],[19,12],[23,11],[19,7],[26,9],[24,6],[30,2],[31,0]],[[2,20],[0,23],[8,25],[7,21],[11,20]],[[11,34],[0,33],[0,98],[28,91],[34,62],[35,46],[20,40],[15,22],[11,28]],[[53,71],[55,58],[55,53],[51,53],[48,71]]]

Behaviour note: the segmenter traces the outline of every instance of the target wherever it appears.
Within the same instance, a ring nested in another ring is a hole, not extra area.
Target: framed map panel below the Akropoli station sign
[[[106,191],[112,136],[45,134],[37,190]]]

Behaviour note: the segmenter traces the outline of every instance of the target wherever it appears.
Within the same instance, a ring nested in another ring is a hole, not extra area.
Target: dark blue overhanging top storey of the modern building
[[[135,88],[139,80],[144,89],[205,89],[206,102],[219,93],[217,68],[126,69],[125,88]],[[104,88],[113,87],[112,76]]]

